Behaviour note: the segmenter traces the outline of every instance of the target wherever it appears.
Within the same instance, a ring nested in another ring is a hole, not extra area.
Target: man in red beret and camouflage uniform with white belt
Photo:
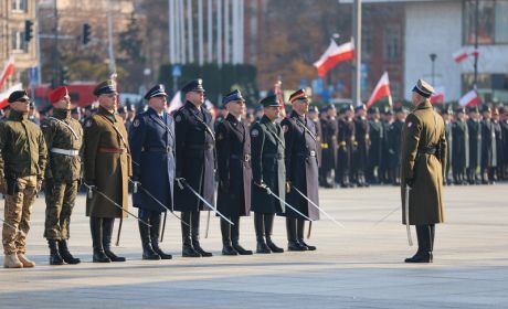
[[[50,264],[78,264],[67,248],[68,225],[81,178],[83,129],[71,117],[71,97],[65,86],[49,95],[53,116],[41,124],[49,150],[45,173],[46,219],[44,237],[50,246]]]

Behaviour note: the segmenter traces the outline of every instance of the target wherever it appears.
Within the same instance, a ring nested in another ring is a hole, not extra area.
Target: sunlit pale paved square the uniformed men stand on
[[[308,241],[316,252],[222,256],[212,216],[202,246],[214,256],[182,258],[178,221],[168,216],[162,247],[173,259],[145,262],[129,219],[115,248],[128,262],[115,264],[91,263],[81,195],[70,242],[84,260],[76,266],[49,265],[41,196],[29,234],[38,266],[0,270],[0,308],[508,308],[507,192],[508,184],[445,188],[447,223],[436,227],[431,265],[402,263],[415,248],[408,246],[400,210],[374,226],[400,204],[395,187],[321,190],[322,209],[346,228],[325,217],[316,222]],[[241,238],[255,249],[252,221],[241,221]],[[202,222],[204,235],[204,214]],[[286,247],[281,217],[274,239]]]

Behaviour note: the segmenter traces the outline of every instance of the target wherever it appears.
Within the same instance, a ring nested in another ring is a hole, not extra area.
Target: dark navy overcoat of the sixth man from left
[[[251,212],[251,135],[242,120],[229,114],[216,126],[219,172],[218,210],[227,216]]]

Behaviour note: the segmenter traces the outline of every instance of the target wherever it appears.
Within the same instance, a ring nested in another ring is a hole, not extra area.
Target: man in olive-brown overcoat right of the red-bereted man
[[[93,260],[125,262],[110,251],[115,217],[127,216],[128,180],[131,173],[127,131],[121,117],[115,114],[117,92],[113,81],[94,89],[99,108],[85,121],[84,168],[88,187],[86,215],[89,216]],[[121,207],[121,209],[120,209]]]

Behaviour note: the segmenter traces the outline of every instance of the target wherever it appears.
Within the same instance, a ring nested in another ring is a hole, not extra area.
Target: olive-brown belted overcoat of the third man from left
[[[127,131],[121,117],[103,107],[85,121],[85,182],[128,209],[128,180],[133,174]],[[126,217],[127,213],[97,192],[86,200],[86,215]]]

